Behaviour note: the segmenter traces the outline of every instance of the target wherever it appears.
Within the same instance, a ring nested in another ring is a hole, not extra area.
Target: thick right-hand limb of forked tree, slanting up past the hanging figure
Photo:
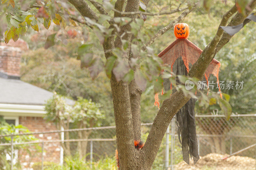
[[[220,22],[220,26],[225,26],[227,24],[228,19],[236,12],[236,7],[232,7],[226,14],[223,15],[223,18]],[[188,72],[189,77],[203,78],[204,72],[207,69],[208,65],[212,61],[212,57],[214,56],[215,48],[217,43],[220,41],[220,37],[223,33],[218,29],[213,40],[208,44],[206,48],[204,48],[202,54],[195,64],[191,67]],[[149,161],[152,165],[156,154],[158,152],[159,146],[163,140],[164,133],[172,120],[173,116],[178,112],[178,110],[184,106],[191,98],[190,95],[185,96],[182,91],[175,92],[171,97],[164,100],[162,107],[158,111],[152,128],[149,132],[147,141],[142,149],[144,154],[146,155],[147,161]]]

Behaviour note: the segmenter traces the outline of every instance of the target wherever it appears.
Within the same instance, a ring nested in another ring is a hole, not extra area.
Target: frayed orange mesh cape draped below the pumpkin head
[[[166,47],[161,53],[158,54],[159,57],[162,58],[163,62],[172,66],[175,60],[178,57],[182,57],[182,60],[189,71],[189,63],[194,64],[196,60],[199,58],[200,54],[203,52],[200,48],[198,48],[195,44],[190,42],[187,39],[177,39],[168,47]],[[208,68],[205,71],[205,78],[208,84],[208,78],[210,74],[217,78],[217,83],[220,91],[219,84],[219,70],[220,70],[220,62],[213,59],[209,64]],[[171,85],[172,88],[172,85]],[[222,98],[222,94],[220,93],[220,97]],[[158,94],[155,95],[155,105],[159,107]]]

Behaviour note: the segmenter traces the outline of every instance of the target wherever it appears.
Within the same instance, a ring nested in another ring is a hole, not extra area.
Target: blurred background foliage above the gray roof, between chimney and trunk
[[[92,80],[89,71],[80,68],[80,61],[75,57],[81,39],[68,38],[67,44],[58,43],[52,48],[44,49],[44,33],[47,32],[34,34],[28,40],[32,49],[22,56],[21,79],[74,100],[79,97],[92,99],[93,102],[101,104],[101,110],[108,117],[102,120],[101,125],[113,125],[113,102],[109,79],[101,72],[95,80]]]

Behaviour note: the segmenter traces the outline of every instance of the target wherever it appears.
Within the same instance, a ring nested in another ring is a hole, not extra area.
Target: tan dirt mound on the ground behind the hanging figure
[[[241,157],[241,156],[231,156],[225,160],[221,160],[221,158],[225,158],[226,155],[221,155],[218,153],[210,153],[203,157],[200,157],[196,165],[192,161],[190,161],[190,165],[186,164],[184,161],[175,165],[176,170],[251,170],[255,169],[255,159],[249,157]]]

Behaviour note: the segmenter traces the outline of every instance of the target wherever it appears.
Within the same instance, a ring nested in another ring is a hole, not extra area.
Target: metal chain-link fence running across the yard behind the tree
[[[141,124],[141,140],[146,140],[151,126],[152,123]],[[232,154],[245,148],[237,155],[256,158],[253,145],[256,143],[256,114],[231,115],[229,120],[224,115],[196,115],[196,132],[200,157],[209,153]],[[33,135],[36,140],[15,142],[16,136],[28,135]],[[4,137],[11,138],[11,143],[2,143]],[[248,146],[252,147],[246,148]],[[58,169],[67,161],[76,161],[74,158],[83,160],[87,163],[86,168],[92,169],[97,161],[106,161],[106,158],[114,161],[115,150],[115,126],[0,135],[0,151],[6,158],[0,169]],[[174,165],[181,161],[174,117],[152,169],[174,169]]]

